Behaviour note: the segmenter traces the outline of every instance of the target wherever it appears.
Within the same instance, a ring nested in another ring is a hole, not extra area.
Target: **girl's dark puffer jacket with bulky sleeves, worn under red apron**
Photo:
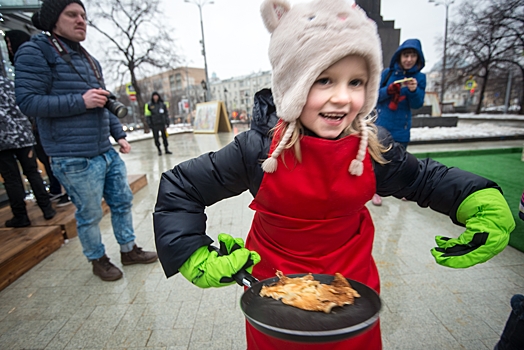
[[[153,222],[158,256],[167,277],[176,274],[196,249],[213,242],[206,235],[207,206],[246,190],[257,194],[264,175],[261,160],[267,158],[271,143],[268,133],[277,121],[270,90],[261,90],[255,95],[251,130],[238,134],[216,152],[162,174]],[[381,196],[406,197],[460,224],[456,212],[467,196],[480,189],[498,188],[475,174],[432,159],[417,159],[395,144],[385,129],[379,129],[379,139],[392,145],[384,154],[389,162],[374,164],[376,192]]]

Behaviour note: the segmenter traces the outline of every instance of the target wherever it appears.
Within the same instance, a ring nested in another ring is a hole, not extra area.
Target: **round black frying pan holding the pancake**
[[[306,274],[290,274],[302,277]],[[313,274],[320,283],[330,284],[334,276]],[[354,337],[375,324],[381,308],[378,294],[370,287],[348,279],[360,298],[353,305],[334,307],[329,314],[302,310],[273,298],[259,295],[262,286],[278,281],[278,277],[258,281],[245,270],[233,276],[241,286],[248,287],[240,299],[240,308],[247,321],[269,336],[307,343],[327,343]]]

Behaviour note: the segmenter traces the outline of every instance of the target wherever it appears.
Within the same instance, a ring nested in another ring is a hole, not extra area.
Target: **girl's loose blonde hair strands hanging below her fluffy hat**
[[[383,153],[387,152],[389,150],[389,147],[386,148],[384,145],[382,145],[378,141],[378,130],[375,125],[375,119],[376,119],[376,113],[373,111],[370,115],[367,117],[357,117],[353,120],[351,125],[349,125],[344,131],[342,131],[341,136],[346,137],[349,135],[360,135],[361,133],[361,126],[366,128],[367,135],[368,135],[368,152],[371,158],[379,164],[386,164],[387,161],[382,156]],[[362,120],[362,124],[360,121]],[[278,139],[278,143],[282,141],[282,138],[284,137],[287,128],[289,127],[290,123],[282,121],[282,123],[278,123],[273,129],[273,134],[279,134],[280,137]],[[302,126],[302,123],[300,123],[300,119],[296,121],[295,127],[293,130],[293,133],[291,134],[291,137],[289,141],[285,144],[284,149],[290,149],[293,148],[293,152],[295,154],[295,158],[300,163],[302,162],[302,152],[300,150],[300,138],[304,134],[304,127]],[[280,156],[282,160],[284,160],[284,152],[280,153]]]

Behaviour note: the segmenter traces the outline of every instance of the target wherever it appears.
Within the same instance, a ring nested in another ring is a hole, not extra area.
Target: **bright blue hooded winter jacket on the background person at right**
[[[400,52],[406,49],[415,49],[418,52],[417,63],[409,70],[405,71],[400,67]],[[411,109],[417,109],[424,105],[424,95],[426,94],[426,74],[420,71],[425,66],[422,45],[418,39],[408,39],[399,46],[391,58],[389,68],[384,69],[380,81],[378,94],[377,112],[378,119],[376,124],[383,126],[397,142],[409,142],[411,130]],[[389,72],[391,71],[391,74]],[[417,89],[409,91],[406,86],[400,90],[400,96],[405,96],[403,101],[398,103],[398,108],[393,111],[389,108],[391,95],[388,95],[389,84],[403,78],[417,79]],[[385,81],[387,79],[387,81]]]

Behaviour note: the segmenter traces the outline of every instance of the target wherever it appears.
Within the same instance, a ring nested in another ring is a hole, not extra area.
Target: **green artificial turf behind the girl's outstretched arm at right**
[[[516,228],[509,244],[524,252],[524,221],[519,218],[519,203],[524,191],[522,148],[418,153],[419,158],[433,158],[450,167],[457,167],[495,181],[504,192]]]

